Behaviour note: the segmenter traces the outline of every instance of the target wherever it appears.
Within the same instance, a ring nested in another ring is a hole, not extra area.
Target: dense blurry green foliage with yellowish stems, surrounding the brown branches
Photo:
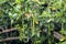
[[[0,0],[0,26],[16,28],[32,44],[65,44],[52,32],[66,37],[66,0]]]

